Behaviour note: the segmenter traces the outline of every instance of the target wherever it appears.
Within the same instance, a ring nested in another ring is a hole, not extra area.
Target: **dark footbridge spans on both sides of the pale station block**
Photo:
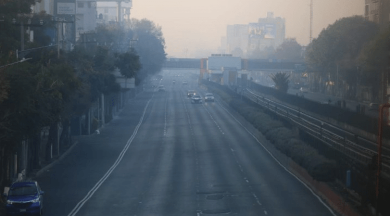
[[[206,68],[201,61],[207,62],[207,58],[167,58],[164,68],[188,68],[201,69]],[[203,65],[203,67],[202,67]],[[248,71],[293,71],[303,72],[306,69],[303,61],[290,61],[282,59],[241,59],[241,69]]]

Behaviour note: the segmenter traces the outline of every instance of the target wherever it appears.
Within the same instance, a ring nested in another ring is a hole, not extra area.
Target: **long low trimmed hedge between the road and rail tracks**
[[[206,85],[265,135],[279,151],[305,168],[314,179],[318,181],[335,179],[336,162],[325,158],[315,148],[299,140],[298,135],[284,127],[281,121],[274,120],[264,113],[264,110],[245,103],[234,91],[226,90],[224,86],[214,83],[206,83]]]

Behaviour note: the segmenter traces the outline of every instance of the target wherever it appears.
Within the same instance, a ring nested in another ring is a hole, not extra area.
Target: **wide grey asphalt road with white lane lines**
[[[218,100],[191,104],[196,79],[169,77],[37,178],[46,215],[334,215]]]

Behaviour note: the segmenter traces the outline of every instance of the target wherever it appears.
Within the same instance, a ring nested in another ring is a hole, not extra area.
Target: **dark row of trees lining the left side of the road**
[[[61,146],[69,144],[70,119],[84,114],[102,94],[120,91],[113,72],[125,78],[135,78],[136,85],[156,74],[166,53],[161,28],[147,19],[133,19],[128,26],[99,26],[92,35],[93,43],[79,41],[71,51],[61,50],[60,57],[52,47],[50,32],[55,23],[50,15],[34,14],[34,20],[44,20],[35,31],[34,42],[22,41],[25,48],[37,48],[25,54],[31,58],[18,61],[15,50],[20,47],[20,27],[14,17],[26,19],[35,0],[0,1],[0,188],[9,179],[10,163],[23,140],[30,140],[35,152],[32,168],[39,168],[39,153],[46,150],[50,160],[51,147],[55,152],[58,122],[62,126]],[[27,39],[26,37],[24,37]],[[82,37],[81,37],[82,39]],[[45,48],[43,48],[45,47]],[[8,65],[8,66],[7,66]],[[49,128],[47,149],[40,149],[42,128]]]

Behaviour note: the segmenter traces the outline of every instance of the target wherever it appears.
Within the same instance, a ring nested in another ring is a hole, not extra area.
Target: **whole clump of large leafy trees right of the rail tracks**
[[[327,80],[328,88],[334,86],[333,94],[346,89],[345,97],[354,98],[357,87],[363,85],[372,89],[373,96],[379,96],[388,41],[388,30],[379,32],[376,23],[362,16],[342,18],[323,29],[309,44],[306,65],[317,74],[317,80]]]

